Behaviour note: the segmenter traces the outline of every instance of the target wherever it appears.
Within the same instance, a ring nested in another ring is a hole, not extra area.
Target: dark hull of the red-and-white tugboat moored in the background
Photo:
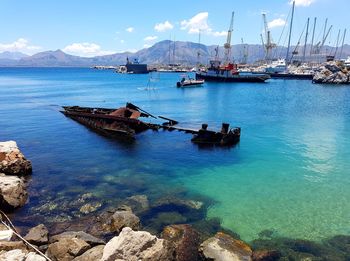
[[[218,75],[206,75],[202,73],[196,73],[196,79],[203,79],[206,81],[213,81],[213,82],[252,82],[252,83],[262,83],[265,82],[267,79],[269,79],[269,75],[235,75],[235,76],[221,76]]]

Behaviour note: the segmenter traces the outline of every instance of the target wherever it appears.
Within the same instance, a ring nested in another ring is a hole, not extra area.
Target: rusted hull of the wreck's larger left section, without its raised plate
[[[151,128],[149,124],[138,119],[109,115],[114,109],[78,106],[63,108],[61,112],[65,116],[111,137],[133,138],[135,134]]]

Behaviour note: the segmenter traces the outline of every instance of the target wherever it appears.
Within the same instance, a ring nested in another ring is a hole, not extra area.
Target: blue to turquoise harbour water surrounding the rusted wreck
[[[148,85],[148,75],[1,68],[0,140],[16,140],[33,163],[30,200],[15,221],[49,203],[38,219],[77,217],[72,202],[86,192],[104,207],[135,194],[181,194],[204,200],[206,219],[218,217],[247,241],[264,230],[310,240],[350,235],[349,87],[269,80],[178,89],[179,77],[161,73]],[[241,126],[241,142],[202,149],[189,134],[147,131],[129,144],[59,113],[62,105],[126,101],[182,126]]]

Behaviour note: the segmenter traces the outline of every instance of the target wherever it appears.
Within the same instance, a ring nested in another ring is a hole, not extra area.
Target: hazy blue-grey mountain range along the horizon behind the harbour
[[[299,48],[301,49],[301,48]],[[309,52],[310,46],[307,46],[306,53]],[[218,56],[223,57],[224,48],[221,46],[207,46],[193,42],[170,41],[164,40],[154,44],[149,48],[144,48],[136,53],[123,52],[110,55],[95,57],[80,57],[69,55],[61,50],[45,51],[34,55],[26,55],[19,52],[3,52],[0,53],[0,67],[91,67],[95,65],[123,65],[126,59],[133,60],[137,58],[140,63],[149,65],[180,63],[184,65],[194,65],[198,62],[207,64],[209,59],[215,56],[218,50]],[[295,46],[291,50],[297,55],[302,54],[302,50],[298,50]],[[335,47],[324,46],[323,52],[334,54]],[[338,54],[340,48],[337,50]],[[287,53],[286,47],[277,47],[274,50],[276,57],[285,57]],[[238,44],[232,46],[232,54],[236,62],[254,63],[264,59],[264,48],[259,44]],[[350,45],[343,46],[341,58],[350,56]]]

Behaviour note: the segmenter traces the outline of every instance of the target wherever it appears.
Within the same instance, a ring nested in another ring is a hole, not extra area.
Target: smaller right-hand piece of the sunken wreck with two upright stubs
[[[241,137],[241,128],[235,127],[229,129],[230,124],[223,123],[220,132],[207,130],[208,124],[202,124],[202,128],[194,134],[191,141],[197,144],[230,146],[239,142]]]

